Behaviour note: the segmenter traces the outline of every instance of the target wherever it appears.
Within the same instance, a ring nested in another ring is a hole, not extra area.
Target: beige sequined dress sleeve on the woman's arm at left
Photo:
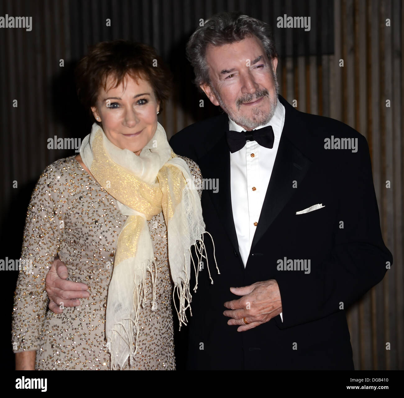
[[[21,269],[14,294],[13,351],[37,350],[47,307],[45,277],[59,248],[61,212],[59,184],[48,168],[40,176],[29,202],[25,220]],[[60,176],[59,176],[60,178]],[[62,198],[61,200],[64,200]]]

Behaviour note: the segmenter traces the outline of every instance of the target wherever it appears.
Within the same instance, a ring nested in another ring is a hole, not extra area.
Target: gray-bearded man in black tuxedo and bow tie
[[[225,111],[170,140],[219,182],[201,200],[221,274],[210,284],[200,271],[188,368],[353,369],[345,309],[392,263],[365,138],[278,95],[276,50],[261,21],[215,15],[187,55],[198,87]],[[52,286],[74,282],[54,267],[47,279],[56,303],[84,296],[58,293]]]

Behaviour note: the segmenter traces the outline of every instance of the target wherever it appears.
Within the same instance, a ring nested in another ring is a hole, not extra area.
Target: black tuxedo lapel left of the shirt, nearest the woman
[[[217,216],[220,218],[236,253],[239,258],[241,258],[238,248],[236,227],[234,226],[233,210],[231,207],[230,150],[224,132],[223,137],[219,142],[213,146],[206,155],[201,157],[198,160],[198,163],[203,178],[217,178],[217,181],[219,182],[218,192],[214,193],[213,190],[208,189],[208,195],[213,202]],[[204,191],[203,194],[206,195],[206,191]]]

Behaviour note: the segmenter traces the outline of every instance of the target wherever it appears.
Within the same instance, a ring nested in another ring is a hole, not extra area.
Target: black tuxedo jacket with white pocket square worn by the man
[[[381,236],[366,139],[278,98],[285,123],[245,269],[231,208],[227,114],[186,127],[170,140],[177,154],[198,163],[203,178],[219,182],[219,191],[205,189],[201,201],[220,275],[205,237],[214,283],[205,266],[191,303],[189,369],[353,369],[345,310],[392,263]],[[325,149],[331,136],[356,140],[357,152]],[[324,207],[296,214],[318,203]],[[310,260],[310,273],[280,270],[280,260]],[[229,288],[268,279],[278,282],[283,322],[278,315],[245,332],[227,325],[223,303],[240,298]]]

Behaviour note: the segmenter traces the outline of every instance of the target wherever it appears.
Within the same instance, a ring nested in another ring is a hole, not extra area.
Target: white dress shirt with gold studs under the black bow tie
[[[231,206],[238,248],[244,267],[250,254],[252,238],[257,228],[269,179],[274,168],[284,123],[285,107],[278,100],[274,116],[269,123],[257,127],[260,129],[261,127],[272,126],[275,136],[274,147],[272,149],[265,148],[256,141],[249,141],[242,149],[230,153]],[[243,127],[230,119],[229,130],[245,131]],[[282,313],[280,315],[282,318]]]

